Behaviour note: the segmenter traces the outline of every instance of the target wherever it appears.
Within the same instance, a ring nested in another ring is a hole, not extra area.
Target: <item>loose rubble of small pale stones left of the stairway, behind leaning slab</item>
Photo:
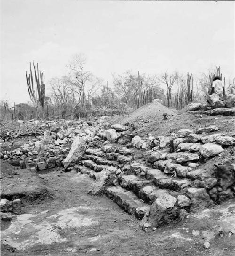
[[[23,144],[20,148],[0,152],[0,158],[8,160],[9,163],[19,166],[21,169],[45,170],[64,165],[67,167],[73,161],[68,160],[67,155],[74,141],[80,139],[80,142],[84,141],[85,144],[88,144],[94,140],[100,140],[105,137],[103,123],[106,127],[111,126],[110,123],[104,122],[104,118],[98,122],[73,121],[69,128],[64,128],[64,125],[69,126],[71,121],[64,122],[57,123],[58,132],[47,129],[43,136],[30,138],[30,142]],[[58,129],[58,127],[60,128]],[[80,142],[77,144],[80,145]]]

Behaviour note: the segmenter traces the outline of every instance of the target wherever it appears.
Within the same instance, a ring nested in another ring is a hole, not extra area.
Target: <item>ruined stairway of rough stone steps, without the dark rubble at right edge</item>
[[[182,210],[208,207],[212,204],[211,199],[216,201],[211,191],[218,179],[197,166],[202,158],[221,153],[222,146],[235,144],[233,137],[199,134],[190,130],[178,133],[179,137],[172,140],[175,152],[169,152],[169,143],[163,148],[157,146],[141,151],[104,140],[94,141],[75,169],[99,184],[93,194],[105,192],[139,219],[149,216],[156,204],[163,212],[165,209],[164,215],[173,211],[179,216]],[[136,156],[141,157],[137,159]]]

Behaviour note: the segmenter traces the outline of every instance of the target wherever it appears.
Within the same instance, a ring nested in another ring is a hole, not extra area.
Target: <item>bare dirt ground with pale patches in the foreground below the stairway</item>
[[[88,176],[59,171],[40,176],[54,196],[25,204],[23,214],[5,226],[2,256],[235,255],[234,235],[220,237],[217,230],[224,221],[229,226],[227,221],[235,224],[235,203],[144,232],[139,220],[106,196],[88,195],[92,182]],[[212,233],[210,249],[203,246],[203,231],[209,236]]]

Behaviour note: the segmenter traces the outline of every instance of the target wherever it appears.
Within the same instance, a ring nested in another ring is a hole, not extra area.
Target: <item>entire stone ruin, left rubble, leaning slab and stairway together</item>
[[[141,138],[132,125],[76,121],[0,157],[38,171],[72,169],[94,179],[88,192],[107,194],[143,228],[168,224],[189,211],[235,196],[235,164],[204,168],[214,157],[234,149],[235,137],[216,126],[180,129],[171,136]]]

